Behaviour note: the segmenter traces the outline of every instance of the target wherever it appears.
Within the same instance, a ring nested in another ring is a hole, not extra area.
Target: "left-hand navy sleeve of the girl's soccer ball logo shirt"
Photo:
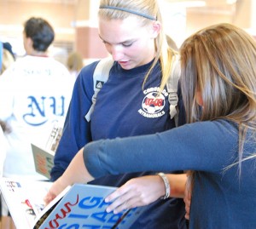
[[[91,106],[93,90],[93,71],[96,63],[85,66],[79,73],[74,84],[73,95],[68,107],[63,133],[59,146],[55,152],[54,167],[51,170],[51,179],[58,179],[79,149],[91,141],[90,123],[85,114]]]

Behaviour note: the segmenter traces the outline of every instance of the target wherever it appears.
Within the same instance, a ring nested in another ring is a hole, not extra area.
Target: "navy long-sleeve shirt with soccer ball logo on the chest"
[[[169,115],[168,93],[164,90],[158,95],[161,80],[160,65],[143,81],[151,63],[131,70],[122,69],[117,62],[109,72],[107,83],[97,94],[96,106],[91,121],[84,116],[91,106],[93,90],[93,72],[96,62],[85,66],[74,85],[73,97],[67,112],[60,144],[55,153],[55,166],[51,171],[52,180],[56,180],[67,169],[75,154],[90,141],[113,139],[135,135],[149,135],[172,129],[174,119]],[[183,104],[180,91],[179,124],[184,123]],[[183,171],[168,171],[183,173]],[[104,175],[90,184],[102,186],[121,186],[131,178],[142,175],[154,175],[144,170],[139,173],[122,175]],[[185,209],[183,199],[168,198],[148,205],[147,210],[131,226],[132,229],[185,229]]]

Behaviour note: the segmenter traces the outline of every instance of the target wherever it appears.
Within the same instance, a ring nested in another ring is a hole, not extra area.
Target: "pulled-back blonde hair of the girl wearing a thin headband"
[[[122,9],[131,10],[133,12],[139,12],[140,14],[148,15],[156,20],[160,21],[163,25],[162,16],[160,13],[160,7],[157,0],[101,0],[100,6],[111,6]],[[124,20],[129,16],[136,16],[141,20],[141,26],[147,26],[152,20],[138,14],[132,14],[124,10],[117,9],[99,9],[98,16],[105,20]],[[166,34],[164,29],[161,28],[160,34],[155,38],[155,59],[152,66],[149,68],[144,83],[146,82],[148,75],[152,72],[154,66],[160,60],[160,66],[162,71],[162,79],[160,83],[160,91],[164,89],[167,79],[172,71],[172,61],[176,52],[170,48],[166,42]]]

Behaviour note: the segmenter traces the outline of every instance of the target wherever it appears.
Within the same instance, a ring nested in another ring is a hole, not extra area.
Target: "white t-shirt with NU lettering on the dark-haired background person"
[[[35,171],[31,143],[45,146],[55,121],[64,122],[74,79],[49,57],[27,55],[0,77],[0,119],[12,129],[3,176],[45,179]]]

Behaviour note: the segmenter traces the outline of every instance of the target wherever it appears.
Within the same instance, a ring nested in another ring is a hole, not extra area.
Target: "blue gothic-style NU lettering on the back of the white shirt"
[[[39,126],[48,121],[48,115],[52,116],[64,116],[64,102],[65,97],[55,98],[50,96],[46,98],[42,96],[39,102],[34,96],[28,96],[28,109],[29,112],[23,115],[23,119],[26,123],[32,126]]]

